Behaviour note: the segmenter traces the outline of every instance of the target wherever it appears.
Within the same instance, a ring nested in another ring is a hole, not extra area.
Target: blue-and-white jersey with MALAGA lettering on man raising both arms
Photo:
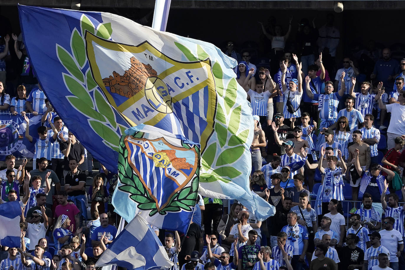
[[[343,197],[342,168],[340,167],[336,167],[335,170],[325,168],[324,183],[322,185],[322,202],[330,202],[330,199],[345,200]]]

